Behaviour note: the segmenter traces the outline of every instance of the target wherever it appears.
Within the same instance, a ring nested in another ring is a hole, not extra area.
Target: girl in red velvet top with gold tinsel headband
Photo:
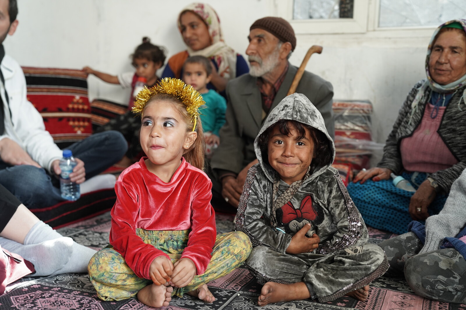
[[[118,178],[110,246],[89,262],[103,300],[137,295],[151,307],[184,293],[215,301],[207,283],[242,264],[251,251],[241,232],[216,235],[212,182],[202,171],[204,137],[199,92],[163,79],[139,92],[141,146],[147,157]]]

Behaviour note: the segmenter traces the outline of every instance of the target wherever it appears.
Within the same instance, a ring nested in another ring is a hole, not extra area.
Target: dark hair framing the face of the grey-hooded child
[[[268,127],[265,132],[259,136],[258,142],[260,152],[262,153],[262,160],[268,163],[267,155],[267,144],[270,133],[276,128],[280,130],[282,135],[289,136],[291,129],[295,129],[298,132],[296,140],[301,140],[306,137],[306,129],[309,131],[312,141],[314,142],[314,153],[312,154],[311,171],[317,166],[329,165],[332,163],[333,152],[330,146],[330,141],[325,133],[315,129],[312,126],[303,124],[296,120],[281,119],[274,125]]]

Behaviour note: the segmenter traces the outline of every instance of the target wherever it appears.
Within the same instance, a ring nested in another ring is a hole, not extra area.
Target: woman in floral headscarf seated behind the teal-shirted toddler
[[[212,79],[207,88],[218,92],[225,90],[226,82],[248,73],[246,60],[223,41],[219,16],[205,3],[192,3],[178,15],[178,29],[188,47],[173,55],[165,66],[162,78],[180,79],[185,60],[201,55],[212,60]]]

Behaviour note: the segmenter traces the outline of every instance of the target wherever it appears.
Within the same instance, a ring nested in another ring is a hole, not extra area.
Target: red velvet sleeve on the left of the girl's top
[[[149,267],[152,261],[160,255],[170,257],[153,245],[145,244],[136,235],[139,197],[134,186],[131,182],[125,182],[124,178],[120,178],[115,185],[117,201],[111,211],[110,244],[123,256],[137,277],[151,279]]]

